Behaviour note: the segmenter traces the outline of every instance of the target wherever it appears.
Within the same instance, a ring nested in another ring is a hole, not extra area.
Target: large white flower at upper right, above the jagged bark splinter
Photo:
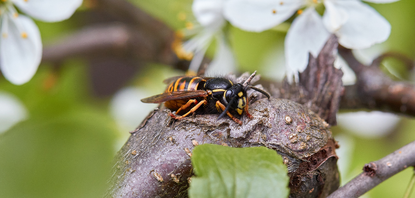
[[[366,0],[372,3],[396,1],[399,0]],[[320,5],[325,8],[322,17],[315,11]],[[288,77],[305,69],[308,53],[316,56],[330,33],[339,37],[341,45],[351,49],[381,43],[390,34],[390,24],[359,0],[228,0],[224,7],[224,16],[232,25],[254,32],[277,26],[296,12],[299,16],[285,38]]]

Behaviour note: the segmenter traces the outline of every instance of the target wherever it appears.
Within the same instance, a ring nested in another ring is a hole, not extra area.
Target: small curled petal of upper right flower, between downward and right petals
[[[349,18],[345,10],[336,7],[336,2],[338,1],[324,1],[323,23],[330,32],[339,30]]]

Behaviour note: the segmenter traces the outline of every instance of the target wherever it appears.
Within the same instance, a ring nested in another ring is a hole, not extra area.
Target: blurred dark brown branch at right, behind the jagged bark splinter
[[[415,116],[415,85],[393,81],[376,64],[361,64],[350,49],[339,48],[339,53],[357,76],[355,85],[346,86],[342,109],[367,108]]]

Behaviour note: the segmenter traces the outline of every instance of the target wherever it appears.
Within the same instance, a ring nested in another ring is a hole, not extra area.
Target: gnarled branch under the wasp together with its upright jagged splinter
[[[271,100],[258,94],[249,110],[254,119],[242,116],[242,125],[218,115],[174,120],[170,110],[154,110],[118,152],[106,196],[187,197],[192,149],[206,143],[274,149],[288,167],[290,197],[327,196],[339,187],[337,143],[327,123],[336,123],[343,91],[342,72],[333,67],[336,48],[333,36],[317,58],[310,55],[300,83],[273,88]]]

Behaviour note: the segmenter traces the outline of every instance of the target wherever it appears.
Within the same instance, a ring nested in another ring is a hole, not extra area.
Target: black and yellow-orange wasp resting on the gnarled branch
[[[232,80],[223,77],[198,77],[198,76],[179,76],[173,79],[164,80],[170,84],[165,91],[158,95],[153,95],[141,100],[143,103],[164,103],[164,106],[176,111],[176,115],[170,113],[175,119],[182,119],[196,110],[203,113],[221,113],[218,119],[228,115],[233,121],[242,124],[230,112],[242,115],[243,113],[250,119],[253,117],[248,112],[248,88],[261,92],[270,98],[266,91],[250,86],[252,78],[256,75],[255,71],[243,83],[234,83]],[[187,111],[182,116],[178,114]]]

